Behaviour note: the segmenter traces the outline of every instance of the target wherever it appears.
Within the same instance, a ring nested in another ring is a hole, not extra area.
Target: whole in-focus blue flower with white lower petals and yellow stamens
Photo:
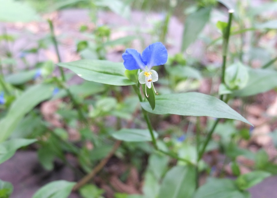
[[[142,69],[143,71],[138,77],[140,84],[146,84],[148,88],[151,88],[152,85],[157,95],[158,92],[155,90],[153,82],[158,80],[158,73],[151,68],[165,64],[167,57],[166,47],[161,42],[149,45],[144,49],[142,54],[138,53],[135,49],[126,49],[126,52],[122,54],[125,68],[128,70]]]

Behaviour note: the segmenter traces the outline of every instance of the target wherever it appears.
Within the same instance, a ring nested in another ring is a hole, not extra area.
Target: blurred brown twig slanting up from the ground
[[[101,169],[107,164],[107,162],[109,161],[109,159],[114,155],[114,153],[116,152],[116,150],[118,149],[118,147],[120,146],[122,141],[117,140],[114,143],[113,148],[111,149],[111,151],[109,152],[109,154],[103,159],[101,160],[101,162],[85,177],[83,177],[72,189],[72,191],[76,191],[79,188],[81,188],[83,185],[85,185],[87,182],[89,182],[99,171],[101,171]]]

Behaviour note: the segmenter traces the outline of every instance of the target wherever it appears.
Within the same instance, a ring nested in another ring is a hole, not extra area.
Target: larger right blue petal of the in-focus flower
[[[167,61],[167,50],[161,42],[155,42],[142,52],[142,59],[147,63],[148,69],[152,66],[163,65]]]

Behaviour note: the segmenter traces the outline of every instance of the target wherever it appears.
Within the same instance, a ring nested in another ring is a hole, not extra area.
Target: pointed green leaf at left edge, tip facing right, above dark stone
[[[36,139],[11,139],[0,143],[0,164],[10,159],[17,149],[36,141]]]

